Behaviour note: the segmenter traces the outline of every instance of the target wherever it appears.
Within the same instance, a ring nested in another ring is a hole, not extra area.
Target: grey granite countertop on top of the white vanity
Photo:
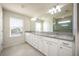
[[[74,36],[71,33],[57,33],[57,32],[29,32],[29,33],[68,41],[74,40]]]

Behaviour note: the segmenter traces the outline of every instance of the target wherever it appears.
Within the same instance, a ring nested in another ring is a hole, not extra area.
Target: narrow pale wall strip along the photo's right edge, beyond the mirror
[[[79,56],[79,4],[74,4],[75,55]]]

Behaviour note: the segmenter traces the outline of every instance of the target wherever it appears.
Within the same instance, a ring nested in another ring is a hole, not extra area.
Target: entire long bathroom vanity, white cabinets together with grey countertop
[[[26,32],[25,41],[47,56],[74,55],[74,38],[71,35]]]

